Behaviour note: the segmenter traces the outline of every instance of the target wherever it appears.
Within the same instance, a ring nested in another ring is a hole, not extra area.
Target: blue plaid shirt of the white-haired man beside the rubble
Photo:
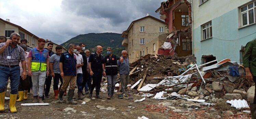
[[[120,63],[120,60],[117,61],[117,67],[120,75],[126,75],[130,72],[130,64],[129,59],[124,59],[123,62]]]

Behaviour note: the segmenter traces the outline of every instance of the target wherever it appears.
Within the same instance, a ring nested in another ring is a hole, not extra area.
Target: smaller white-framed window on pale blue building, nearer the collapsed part
[[[208,25],[208,26],[207,26]],[[205,26],[205,28],[204,28],[204,26]],[[207,37],[207,29],[209,28],[209,37]],[[212,21],[210,21],[210,22],[207,22],[207,23],[205,23],[205,24],[203,24],[203,25],[201,25],[201,29],[202,29],[202,39],[201,39],[201,41],[203,41],[203,40],[206,40],[206,39],[209,39],[209,38],[212,38],[213,37],[213,28],[212,28]],[[205,34],[204,34],[204,30],[205,30]],[[205,36],[204,36],[205,35]],[[212,36],[211,36],[212,35]],[[205,38],[204,38],[205,37]]]

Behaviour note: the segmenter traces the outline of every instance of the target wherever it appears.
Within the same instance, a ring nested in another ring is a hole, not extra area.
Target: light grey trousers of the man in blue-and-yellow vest
[[[43,87],[45,82],[46,71],[32,71],[32,82],[33,82],[33,96],[42,97],[43,96]]]

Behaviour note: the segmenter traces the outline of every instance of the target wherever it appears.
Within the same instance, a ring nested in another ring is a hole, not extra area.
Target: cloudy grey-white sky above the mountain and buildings
[[[126,30],[165,0],[0,0],[0,18],[61,44],[77,35]]]

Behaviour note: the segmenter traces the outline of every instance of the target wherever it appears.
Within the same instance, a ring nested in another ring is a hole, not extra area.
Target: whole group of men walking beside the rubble
[[[17,112],[16,101],[27,100],[30,88],[33,90],[33,103],[43,103],[43,98],[50,96],[50,86],[53,78],[54,98],[64,103],[63,95],[67,95],[67,104],[77,104],[74,91],[77,85],[78,100],[89,94],[92,97],[96,88],[96,98],[100,96],[102,76],[107,77],[107,99],[114,96],[117,74],[121,79],[121,92],[126,95],[125,89],[129,83],[129,60],[126,51],[121,56],[113,54],[112,48],[107,48],[107,56],[103,57],[102,47],[98,45],[95,53],[86,50],[85,44],[69,44],[68,51],[62,53],[62,47],[56,46],[54,53],[53,43],[39,38],[35,48],[27,47],[26,39],[12,33],[10,39],[0,36],[0,111],[4,111],[5,89],[8,79],[11,81],[9,108],[11,113]],[[61,81],[60,87],[59,81]],[[68,93],[66,90],[69,86]],[[83,90],[85,89],[85,92]],[[19,98],[17,99],[17,94]]]

